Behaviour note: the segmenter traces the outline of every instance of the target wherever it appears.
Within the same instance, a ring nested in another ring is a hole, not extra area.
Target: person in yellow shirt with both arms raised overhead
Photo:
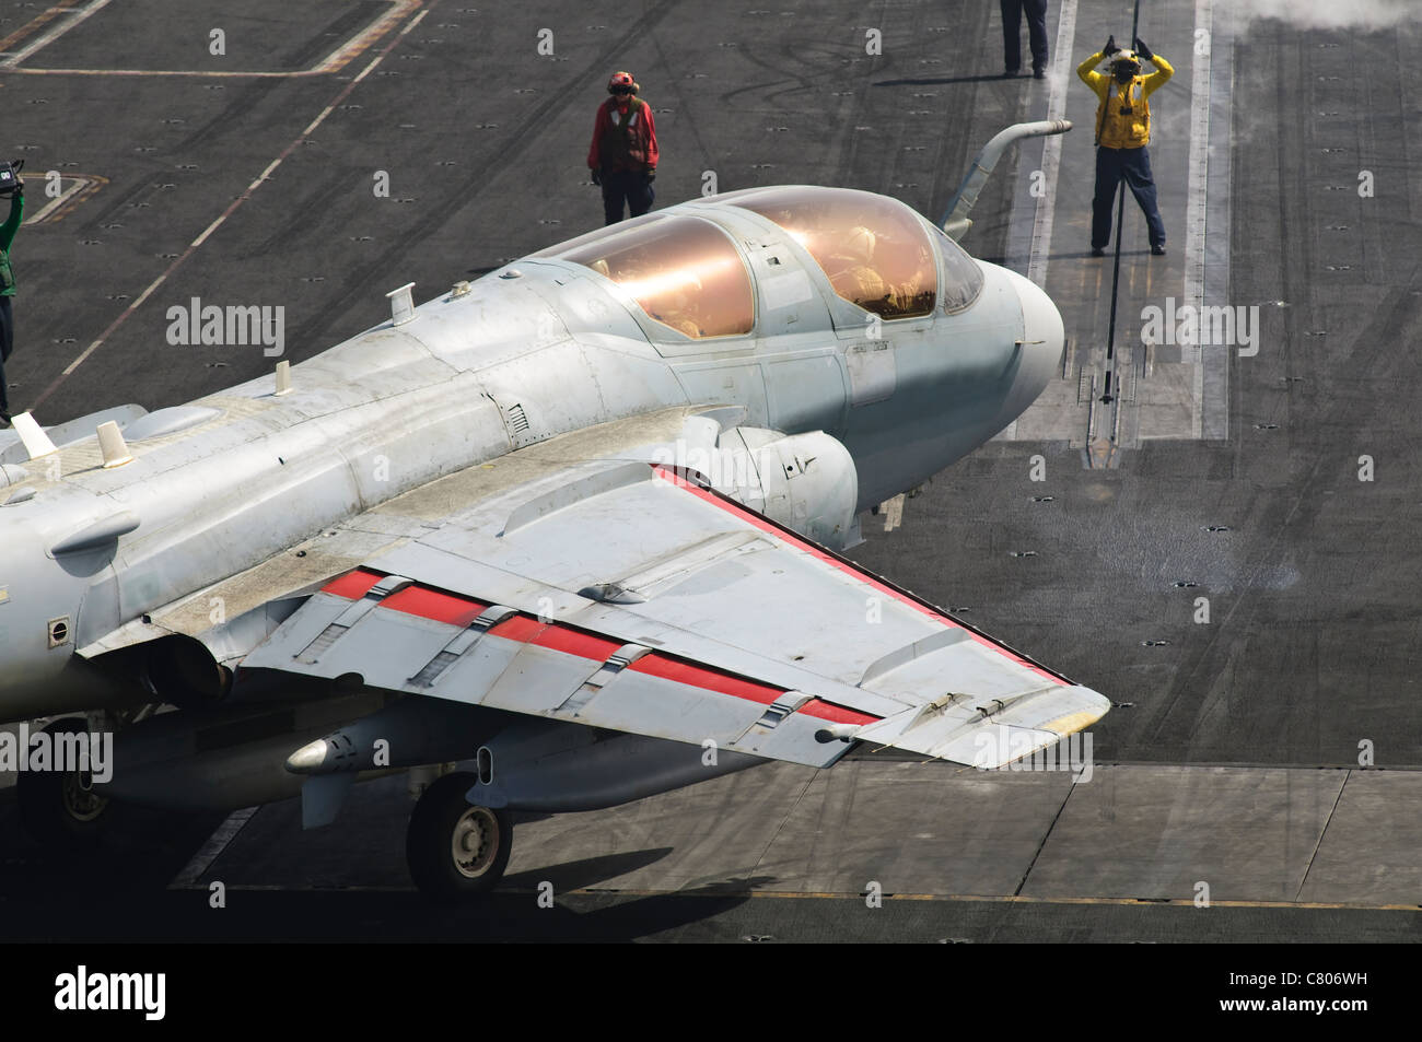
[[[1111,75],[1102,75],[1096,65],[1112,58]],[[1140,74],[1140,61],[1155,65],[1150,75]],[[1150,252],[1165,254],[1165,222],[1156,206],[1155,178],[1150,173],[1150,95],[1165,84],[1175,70],[1170,63],[1136,37],[1136,50],[1116,47],[1116,37],[1076,67],[1079,75],[1096,92],[1096,195],[1091,203],[1091,256],[1101,257],[1111,242],[1111,208],[1116,200],[1121,179],[1126,179],[1130,193],[1140,203],[1150,230]]]

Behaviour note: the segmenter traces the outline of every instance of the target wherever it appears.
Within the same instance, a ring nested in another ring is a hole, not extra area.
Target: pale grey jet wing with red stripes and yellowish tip
[[[853,741],[1000,766],[1111,705],[671,468],[462,496],[478,471],[363,515],[387,549],[242,668],[815,766]]]

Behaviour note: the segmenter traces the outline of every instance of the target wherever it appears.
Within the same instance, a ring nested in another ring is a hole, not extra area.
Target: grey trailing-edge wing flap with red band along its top
[[[414,614],[417,607],[427,614]],[[812,766],[843,753],[823,734],[842,715],[811,695],[510,608],[492,611],[361,570],[314,594],[243,667],[357,675],[370,687]],[[493,618],[501,621],[488,625]],[[445,668],[431,670],[441,657]]]

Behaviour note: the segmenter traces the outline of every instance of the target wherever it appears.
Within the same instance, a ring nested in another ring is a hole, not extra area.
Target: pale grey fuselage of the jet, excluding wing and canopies
[[[839,296],[764,216],[711,199],[643,220],[674,219],[729,242],[754,293],[748,333],[687,335],[637,287],[552,247],[293,367],[289,394],[269,375],[129,422],[121,466],[102,466],[92,436],[37,459],[18,444],[0,451],[0,719],[131,698],[75,651],[92,657],[155,608],[559,434],[735,405],[747,426],[842,441],[867,509],[997,434],[1059,358],[1055,307],[1005,269],[968,262],[981,289],[951,314],[936,304],[883,318]]]

